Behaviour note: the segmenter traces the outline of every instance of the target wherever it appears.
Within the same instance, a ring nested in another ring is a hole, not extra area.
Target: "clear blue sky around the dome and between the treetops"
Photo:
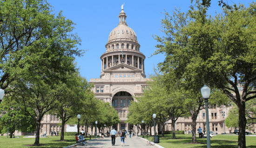
[[[215,15],[220,13],[219,0],[212,0],[208,13]],[[224,0],[225,1],[225,0]],[[127,15],[127,25],[132,28],[138,42],[140,51],[146,56],[145,73],[148,77],[153,73],[153,67],[164,60],[164,55],[150,57],[156,50],[157,42],[154,35],[164,36],[160,31],[163,12],[169,12],[181,8],[187,12],[191,6],[190,0],[47,0],[53,6],[54,12],[62,10],[62,14],[71,19],[76,25],[73,33],[81,38],[79,49],[87,50],[82,57],[76,57],[77,67],[80,68],[81,76],[99,78],[101,74],[100,56],[106,52],[105,45],[109,33],[119,23],[118,15],[123,3],[124,12]],[[243,3],[249,6],[250,0],[228,0],[229,5]],[[150,58],[148,58],[150,57]]]

